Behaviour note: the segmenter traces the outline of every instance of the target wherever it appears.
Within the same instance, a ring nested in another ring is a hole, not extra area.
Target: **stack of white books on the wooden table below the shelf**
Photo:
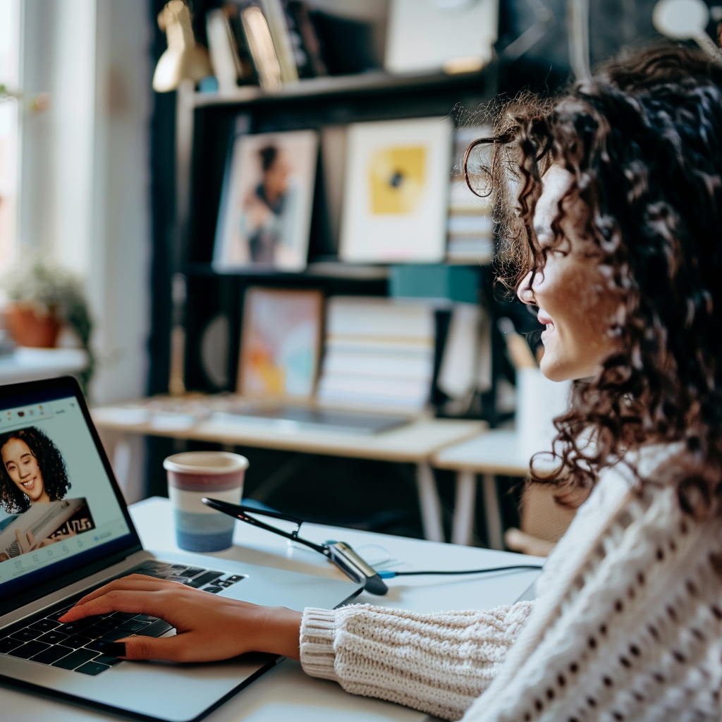
[[[429,305],[332,297],[318,400],[326,406],[419,411],[430,396],[434,346]]]

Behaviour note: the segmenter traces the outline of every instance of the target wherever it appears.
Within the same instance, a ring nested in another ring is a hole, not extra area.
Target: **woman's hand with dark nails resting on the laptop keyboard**
[[[129,636],[124,659],[207,662],[244,652],[270,652],[297,659],[301,613],[214,596],[178,582],[131,574],[84,596],[61,622],[110,612],[136,612],[165,619],[176,635]]]

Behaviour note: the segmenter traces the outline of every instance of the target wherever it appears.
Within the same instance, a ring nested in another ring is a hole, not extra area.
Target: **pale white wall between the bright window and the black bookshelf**
[[[21,252],[87,280],[98,365],[92,401],[144,394],[149,334],[151,27],[144,0],[25,0],[22,90],[51,93],[27,115]],[[129,497],[138,495],[134,440]]]

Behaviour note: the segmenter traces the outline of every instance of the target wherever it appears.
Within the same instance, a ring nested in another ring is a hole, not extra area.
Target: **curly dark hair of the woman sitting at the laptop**
[[[675,484],[695,516],[721,513],[722,64],[690,45],[655,45],[551,100],[508,103],[495,137],[508,285],[544,272],[534,209],[544,172],[558,164],[573,183],[552,245],[572,196],[625,308],[614,329],[622,350],[596,378],[575,381],[570,410],[554,419],[553,464],[536,456],[532,479],[557,484],[557,499],[575,505],[602,469],[630,464],[630,450],[677,442],[654,482]]]

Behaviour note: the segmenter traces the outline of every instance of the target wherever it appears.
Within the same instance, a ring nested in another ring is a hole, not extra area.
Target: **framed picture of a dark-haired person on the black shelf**
[[[216,226],[217,271],[303,271],[318,136],[239,135],[232,142]]]

